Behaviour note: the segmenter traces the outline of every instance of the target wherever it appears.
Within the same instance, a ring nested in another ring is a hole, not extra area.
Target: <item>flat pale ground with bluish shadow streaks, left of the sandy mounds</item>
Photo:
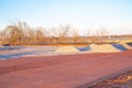
[[[6,46],[0,47],[0,59],[22,56],[53,55],[56,46]]]

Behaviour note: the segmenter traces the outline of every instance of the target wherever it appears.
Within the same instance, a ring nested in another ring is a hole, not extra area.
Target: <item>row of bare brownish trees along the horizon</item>
[[[70,25],[61,24],[58,28],[44,29],[31,28],[25,22],[18,22],[8,25],[0,32],[2,44],[11,45],[44,45],[44,44],[63,44],[63,43],[89,43],[98,41],[98,36],[108,34],[105,28],[96,30],[95,35],[90,38],[88,32],[80,36],[77,29]]]

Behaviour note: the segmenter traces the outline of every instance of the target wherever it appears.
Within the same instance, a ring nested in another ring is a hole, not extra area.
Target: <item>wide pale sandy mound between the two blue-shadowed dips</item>
[[[116,53],[121,52],[120,50],[113,47],[110,44],[102,44],[102,45],[90,45],[91,52],[95,53]]]

